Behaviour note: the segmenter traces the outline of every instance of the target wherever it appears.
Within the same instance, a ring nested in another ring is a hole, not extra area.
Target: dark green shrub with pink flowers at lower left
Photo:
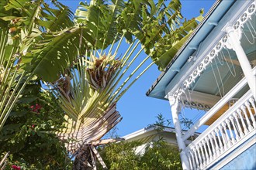
[[[0,132],[0,153],[9,151],[9,167],[71,168],[64,141],[53,132],[64,123],[54,96],[40,92],[36,83],[29,83],[22,96]]]

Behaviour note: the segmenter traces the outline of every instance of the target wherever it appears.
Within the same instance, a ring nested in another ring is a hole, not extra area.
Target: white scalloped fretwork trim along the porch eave
[[[233,25],[233,31],[236,32],[237,39],[241,39],[242,35],[242,29],[244,27],[244,24],[251,20],[252,15],[256,12],[256,2],[252,2],[251,5],[248,6],[248,8],[244,11],[242,15],[234,22]],[[192,73],[188,76],[186,80],[183,81],[180,87],[178,87],[178,90],[173,93],[174,97],[178,97],[180,99],[181,95],[185,93],[185,90],[189,89],[190,85],[195,82],[195,79],[201,75],[203,70],[206,70],[206,66],[208,66],[210,63],[212,63],[212,60],[218,56],[220,51],[223,48],[232,49],[232,46],[230,45],[229,36],[224,34],[224,36],[220,39],[219,42],[216,42],[216,45],[213,47],[212,50],[206,55],[204,59],[202,59],[202,62],[199,63],[199,65],[195,68],[195,70],[192,71]]]

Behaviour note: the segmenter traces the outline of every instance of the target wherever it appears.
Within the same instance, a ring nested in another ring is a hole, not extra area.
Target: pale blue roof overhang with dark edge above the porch
[[[178,50],[178,53],[171,59],[171,62],[147,91],[147,96],[166,100],[164,98],[166,95],[164,91],[165,88],[182,66],[185,65],[189,56],[192,56],[192,54],[195,53],[195,50],[198,49],[200,43],[206,39],[206,36],[209,35],[235,2],[236,1],[218,0],[214,3],[202,22],[199,23],[199,26],[192,32],[189,39],[185,42],[182,48]]]

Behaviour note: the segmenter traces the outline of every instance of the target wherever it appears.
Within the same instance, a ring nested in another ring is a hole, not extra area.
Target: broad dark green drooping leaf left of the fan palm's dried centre
[[[34,42],[31,53],[26,54],[22,63],[26,64],[25,70],[53,82],[78,57],[81,29],[65,29],[57,36],[51,33],[43,33],[42,36],[44,40]]]

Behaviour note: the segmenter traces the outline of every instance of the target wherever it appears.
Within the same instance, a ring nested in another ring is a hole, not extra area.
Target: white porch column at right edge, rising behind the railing
[[[254,95],[254,99],[256,99],[256,76],[254,76],[251,64],[246,56],[246,53],[244,53],[243,47],[240,45],[240,39],[237,35],[237,32],[234,32],[234,28],[232,26],[227,26],[225,31],[229,36],[229,42],[232,49],[234,49],[235,53],[237,54],[237,59],[244,72],[244,76],[246,77],[251,92]]]

